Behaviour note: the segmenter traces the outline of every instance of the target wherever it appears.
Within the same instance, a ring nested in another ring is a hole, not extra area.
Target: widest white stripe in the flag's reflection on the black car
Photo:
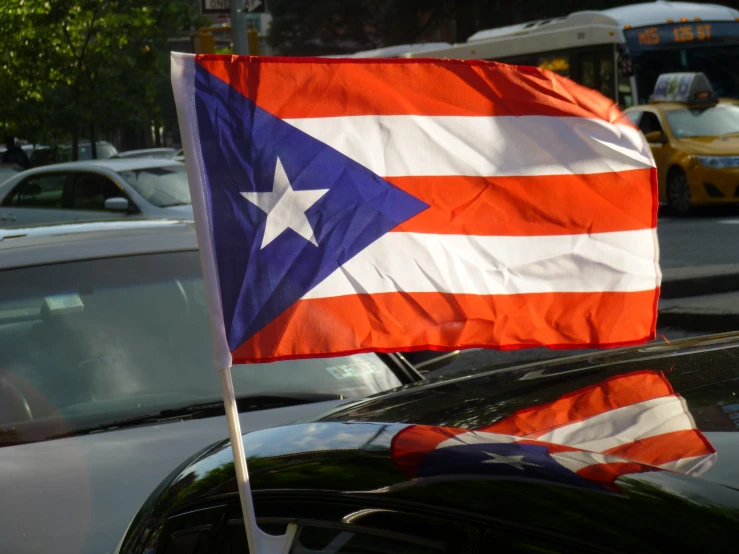
[[[694,429],[682,398],[663,396],[616,408],[529,438],[603,452],[639,439]]]

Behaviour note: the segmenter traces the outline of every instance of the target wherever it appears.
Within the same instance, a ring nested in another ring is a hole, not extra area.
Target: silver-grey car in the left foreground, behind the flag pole
[[[0,232],[0,552],[111,552],[172,467],[228,436],[210,336],[189,223]],[[396,355],[233,368],[248,430],[420,379]]]

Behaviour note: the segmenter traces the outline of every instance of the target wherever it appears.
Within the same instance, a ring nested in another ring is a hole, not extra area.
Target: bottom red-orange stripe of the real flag
[[[639,292],[358,294],[300,300],[234,363],[358,352],[616,347],[654,338],[659,289]]]

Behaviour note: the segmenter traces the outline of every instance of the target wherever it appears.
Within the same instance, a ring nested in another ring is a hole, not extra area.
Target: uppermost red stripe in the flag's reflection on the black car
[[[661,373],[639,371],[611,377],[597,385],[567,394],[554,402],[520,410],[494,425],[479,430],[528,436],[670,394],[672,386]],[[629,456],[622,457],[633,459]]]

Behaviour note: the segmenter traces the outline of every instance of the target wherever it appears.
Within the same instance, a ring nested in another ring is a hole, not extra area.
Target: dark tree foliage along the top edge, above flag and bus
[[[415,42],[462,42],[480,29],[643,1],[270,0],[273,21],[269,41],[277,52],[296,56]],[[721,3],[736,6],[739,0]]]

